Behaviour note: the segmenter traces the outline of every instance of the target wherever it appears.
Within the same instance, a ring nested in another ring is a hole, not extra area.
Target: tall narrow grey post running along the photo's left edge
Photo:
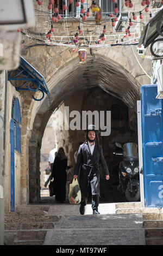
[[[3,71],[4,72],[4,71]],[[3,90],[3,73],[1,77],[1,89]],[[5,162],[5,140],[6,140],[6,121],[7,121],[7,84],[8,75],[5,71],[5,101],[4,101],[4,115],[0,114],[0,245],[4,245],[4,162]],[[3,106],[1,106],[3,109]]]

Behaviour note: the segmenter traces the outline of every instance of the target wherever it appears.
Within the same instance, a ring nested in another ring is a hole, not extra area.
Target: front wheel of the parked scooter
[[[126,188],[126,199],[129,202],[136,202],[140,199],[140,184],[139,181],[133,180],[133,192],[130,192],[129,183],[127,184]]]

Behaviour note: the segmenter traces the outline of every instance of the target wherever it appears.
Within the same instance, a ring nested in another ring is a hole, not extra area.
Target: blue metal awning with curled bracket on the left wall
[[[12,75],[14,73],[14,75]],[[16,70],[12,70],[8,74],[8,80],[17,80],[17,81],[24,81],[23,85],[17,86],[16,90],[29,90],[32,92],[41,91],[42,97],[40,99],[36,99],[32,96],[35,100],[42,100],[44,98],[44,94],[49,94],[48,87],[46,85],[45,79],[43,76],[32,66],[30,65],[26,59],[20,56],[20,66]]]

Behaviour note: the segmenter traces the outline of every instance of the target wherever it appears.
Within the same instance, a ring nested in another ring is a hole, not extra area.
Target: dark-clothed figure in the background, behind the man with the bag
[[[67,166],[64,148],[60,147],[54,159],[51,176],[51,178],[54,178],[55,200],[57,201],[63,202],[66,200],[66,170],[70,168],[71,166]]]

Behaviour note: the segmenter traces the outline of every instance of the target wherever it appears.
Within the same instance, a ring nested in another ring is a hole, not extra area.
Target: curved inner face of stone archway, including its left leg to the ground
[[[78,58],[60,68],[47,86],[50,97],[46,97],[36,113],[29,140],[29,202],[40,201],[40,148],[43,132],[52,112],[64,100],[82,88],[101,87],[105,92],[121,99],[136,111],[139,99],[139,84],[130,73],[109,58],[101,55],[88,56],[86,64]]]

